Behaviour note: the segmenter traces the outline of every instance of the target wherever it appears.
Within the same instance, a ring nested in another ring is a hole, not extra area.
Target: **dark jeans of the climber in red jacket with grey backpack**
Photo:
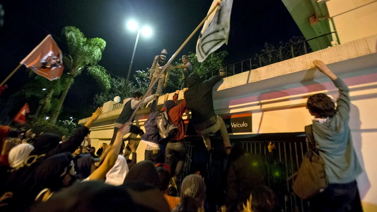
[[[166,144],[165,149],[165,163],[169,164],[170,169],[173,169],[174,158],[176,158],[177,166],[175,167],[174,176],[177,180],[180,179],[182,174],[182,168],[186,159],[186,146],[184,140],[171,142]]]

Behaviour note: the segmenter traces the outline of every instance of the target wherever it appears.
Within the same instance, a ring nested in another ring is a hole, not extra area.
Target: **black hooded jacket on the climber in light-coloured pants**
[[[202,124],[216,116],[215,109],[213,108],[212,89],[220,80],[222,80],[220,76],[213,76],[209,80],[202,81],[196,73],[190,74],[187,79],[189,89],[185,91],[184,97],[187,109],[191,110],[191,121],[194,126]],[[210,126],[204,126],[203,128],[205,129]]]

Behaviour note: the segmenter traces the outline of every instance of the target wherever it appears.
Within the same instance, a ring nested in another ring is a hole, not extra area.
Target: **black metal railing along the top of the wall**
[[[319,42],[319,38],[329,36],[332,34],[335,34],[337,36],[336,31],[323,34],[314,38],[310,38],[308,40],[303,40],[303,41],[293,43],[288,46],[284,46],[282,48],[279,48],[279,49],[276,49],[276,50],[273,50],[273,51],[270,51],[261,55],[257,55],[255,57],[248,58],[246,60],[242,60],[237,63],[233,63],[231,65],[224,66],[219,69],[208,71],[204,74],[200,74],[200,76],[204,77],[205,80],[207,80],[208,78],[214,75],[220,75],[219,73],[220,70],[223,70],[224,77],[229,77],[229,76],[239,74],[245,71],[251,71],[256,68],[261,68],[263,66],[271,65],[273,63],[277,63],[280,61],[284,61],[284,60],[288,60],[294,57],[305,55],[305,54],[313,52],[308,42],[316,41],[318,49],[323,49],[328,46],[321,46]],[[165,88],[165,92],[170,93],[170,92],[176,91],[176,89],[182,89],[182,84],[183,84],[182,81],[170,84]]]

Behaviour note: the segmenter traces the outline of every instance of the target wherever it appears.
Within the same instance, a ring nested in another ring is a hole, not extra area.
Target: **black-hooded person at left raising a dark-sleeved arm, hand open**
[[[7,200],[8,204],[2,205],[0,203],[0,210],[23,210],[25,205],[18,204],[23,199],[29,199],[31,193],[29,190],[34,186],[34,174],[37,167],[48,158],[60,154],[62,152],[74,152],[84,137],[89,133],[89,128],[93,122],[102,114],[102,108],[92,114],[89,121],[84,126],[78,129],[66,142],[60,142],[60,136],[50,133],[44,133],[34,138],[34,149],[29,154],[23,163],[12,169],[6,180],[5,187],[1,190],[0,196],[6,193],[12,193],[12,198]]]

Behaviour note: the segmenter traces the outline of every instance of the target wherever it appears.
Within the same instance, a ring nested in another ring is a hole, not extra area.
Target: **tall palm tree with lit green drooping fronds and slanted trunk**
[[[105,49],[106,41],[102,38],[86,38],[84,34],[75,26],[65,26],[63,34],[66,37],[68,45],[68,55],[64,55],[64,67],[69,70],[68,79],[63,94],[58,101],[51,123],[54,124],[63,106],[70,86],[74,83],[74,78],[80,75],[83,70],[87,70],[101,88],[108,90],[110,88],[110,76],[106,69],[97,65],[102,58],[102,52]]]

